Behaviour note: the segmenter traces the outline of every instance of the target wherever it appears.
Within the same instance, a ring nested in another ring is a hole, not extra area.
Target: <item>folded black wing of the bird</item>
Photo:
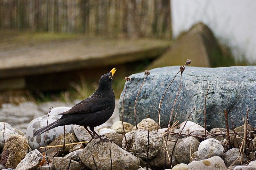
[[[96,96],[91,96],[76,104],[68,111],[60,113],[59,115],[67,115],[73,113],[92,113],[101,110],[107,110],[111,106],[112,102],[113,101],[107,97],[97,98]]]

